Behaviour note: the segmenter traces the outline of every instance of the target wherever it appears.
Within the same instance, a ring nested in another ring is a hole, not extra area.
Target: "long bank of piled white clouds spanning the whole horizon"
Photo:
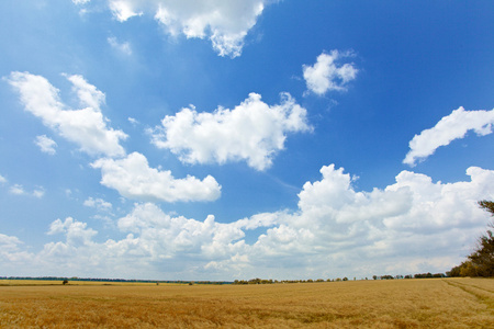
[[[485,229],[489,214],[476,202],[494,198],[494,171],[478,167],[467,170],[470,180],[456,183],[402,171],[395,183],[370,192],[356,191],[350,174],[334,164],[321,174],[303,185],[296,211],[227,224],[138,203],[117,220],[124,238],[97,242],[86,223],[57,219],[48,234],[65,239],[45,245],[24,264],[82,274],[92,266],[89,276],[117,271],[125,277],[182,280],[442,272],[462,261]],[[15,238],[0,235],[0,245],[2,239],[11,246],[1,251],[3,259],[22,251]]]

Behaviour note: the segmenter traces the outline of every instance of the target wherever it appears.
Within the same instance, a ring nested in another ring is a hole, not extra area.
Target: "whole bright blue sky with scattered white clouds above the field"
[[[0,2],[0,275],[446,272],[494,200],[494,2]]]

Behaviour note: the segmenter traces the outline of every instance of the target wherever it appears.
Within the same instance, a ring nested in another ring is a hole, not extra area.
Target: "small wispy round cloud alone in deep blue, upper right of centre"
[[[314,66],[304,65],[303,73],[308,90],[318,95],[332,90],[346,91],[348,82],[357,77],[358,69],[352,63],[339,65],[339,61],[351,56],[351,53],[332,50],[317,56]]]

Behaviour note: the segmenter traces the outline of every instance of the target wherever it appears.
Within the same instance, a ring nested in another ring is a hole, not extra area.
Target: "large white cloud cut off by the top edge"
[[[120,22],[153,14],[171,36],[209,38],[220,56],[236,57],[267,2],[270,1],[109,0],[109,7]]]

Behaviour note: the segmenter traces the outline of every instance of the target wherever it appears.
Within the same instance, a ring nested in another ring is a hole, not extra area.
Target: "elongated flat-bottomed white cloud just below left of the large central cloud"
[[[175,179],[170,171],[150,168],[145,156],[133,152],[124,159],[99,159],[91,164],[101,168],[101,184],[115,189],[122,196],[151,201],[214,201],[221,195],[216,180],[202,181],[188,175]]]

